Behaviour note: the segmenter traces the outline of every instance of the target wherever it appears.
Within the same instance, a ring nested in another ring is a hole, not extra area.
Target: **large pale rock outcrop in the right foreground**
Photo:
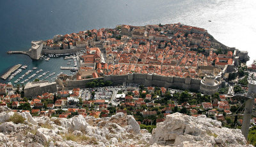
[[[221,122],[200,115],[174,113],[157,123],[150,144],[170,146],[246,146],[241,130],[221,127]]]

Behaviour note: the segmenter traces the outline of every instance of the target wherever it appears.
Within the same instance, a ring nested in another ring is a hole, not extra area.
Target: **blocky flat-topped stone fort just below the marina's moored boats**
[[[45,92],[56,92],[57,85],[56,82],[49,81],[38,81],[38,82],[28,82],[24,88],[25,97],[36,97],[37,95],[42,95]]]

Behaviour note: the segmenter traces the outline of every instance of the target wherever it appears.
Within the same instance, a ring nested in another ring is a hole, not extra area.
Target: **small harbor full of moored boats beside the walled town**
[[[34,80],[55,81],[60,74],[76,74],[79,66],[78,60],[78,53],[42,55],[39,60],[33,60],[30,63],[20,62],[19,66],[13,66],[1,76],[1,82],[26,85],[29,81]]]

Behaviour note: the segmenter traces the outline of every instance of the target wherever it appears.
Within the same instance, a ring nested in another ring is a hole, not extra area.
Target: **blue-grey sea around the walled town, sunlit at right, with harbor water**
[[[23,74],[33,67],[58,74],[62,71],[60,66],[67,66],[63,57],[52,57],[49,61],[31,60],[26,55],[8,55],[6,52],[28,50],[31,41],[51,39],[56,34],[114,28],[120,24],[180,22],[202,27],[224,45],[248,51],[250,61],[247,64],[250,64],[256,59],[256,48],[253,46],[255,14],[255,0],[0,1],[0,74],[15,64],[28,66],[22,71]],[[71,74],[70,71],[62,72]],[[17,74],[12,82],[21,75]],[[8,82],[0,80],[0,83]]]

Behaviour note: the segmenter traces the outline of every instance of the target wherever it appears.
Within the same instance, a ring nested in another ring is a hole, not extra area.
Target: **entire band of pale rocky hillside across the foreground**
[[[17,123],[13,116],[22,116]],[[13,123],[15,122],[15,123]],[[140,129],[131,115],[108,118],[82,115],[73,118],[32,117],[0,108],[0,146],[252,146],[241,130],[201,115],[174,113],[157,123],[152,134]]]

